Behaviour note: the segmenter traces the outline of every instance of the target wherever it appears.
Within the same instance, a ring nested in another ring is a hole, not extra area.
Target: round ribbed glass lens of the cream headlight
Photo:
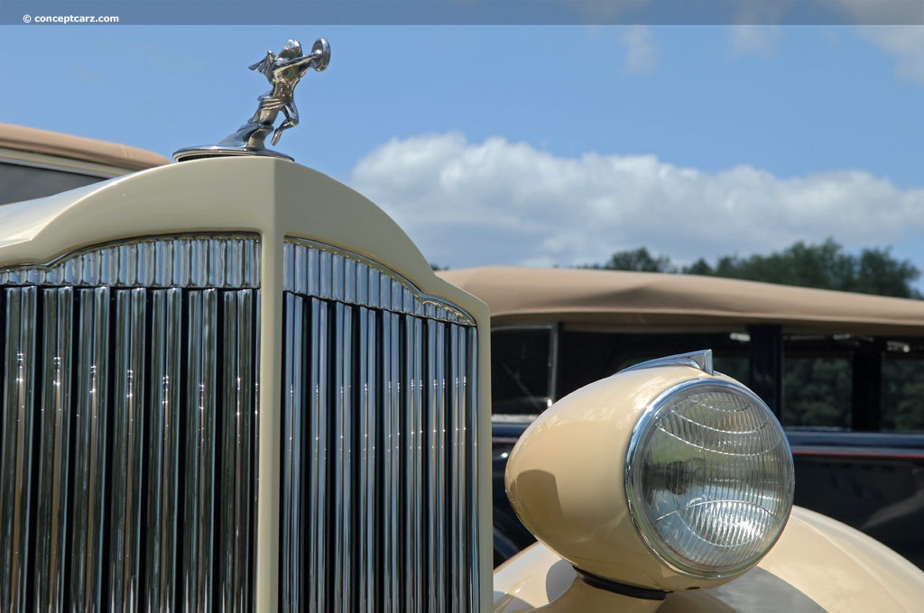
[[[793,487],[776,417],[751,391],[723,379],[662,394],[629,442],[632,521],[664,561],[694,576],[755,564],[783,531]]]

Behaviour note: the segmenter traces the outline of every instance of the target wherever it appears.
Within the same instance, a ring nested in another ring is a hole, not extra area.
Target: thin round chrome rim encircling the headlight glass
[[[743,397],[746,402],[757,407],[758,410],[766,415],[768,422],[777,429],[779,446],[784,450],[784,457],[788,458],[788,462],[785,463],[786,465],[784,466],[784,472],[786,474],[784,475],[783,472],[781,472],[781,477],[785,482],[787,482],[788,486],[786,491],[782,492],[784,502],[781,506],[781,509],[783,512],[779,514],[779,518],[773,524],[772,530],[767,531],[767,534],[770,534],[773,531],[775,531],[775,534],[772,535],[772,538],[766,541],[766,545],[760,549],[760,553],[736,564],[710,566],[706,564],[698,564],[693,560],[686,558],[682,552],[677,551],[674,547],[671,547],[671,545],[667,543],[666,540],[660,535],[657,527],[655,527],[651,521],[648,513],[646,513],[646,511],[641,508],[643,503],[639,503],[639,501],[642,500],[643,493],[639,491],[636,477],[638,473],[641,472],[641,456],[644,455],[644,451],[647,449],[642,443],[650,432],[652,422],[656,420],[656,418],[660,415],[663,415],[664,407],[669,405],[671,401],[675,400],[678,395],[688,393],[690,391],[710,391],[709,388],[711,388],[712,391],[719,391],[722,393]],[[767,552],[772,549],[773,545],[783,534],[784,526],[788,521],[789,513],[792,510],[794,484],[795,479],[792,451],[789,448],[789,442],[786,439],[783,427],[777,420],[776,415],[772,413],[771,409],[760,399],[757,394],[755,394],[753,391],[750,391],[747,387],[738,383],[734,379],[718,379],[714,377],[688,379],[666,391],[663,391],[646,407],[645,411],[638,418],[638,422],[632,430],[632,435],[629,439],[628,448],[626,451],[624,487],[626,492],[626,502],[628,503],[629,518],[635,526],[638,536],[645,543],[646,547],[648,547],[649,550],[653,552],[654,555],[657,556],[657,558],[666,564],[672,571],[687,577],[700,579],[718,579],[734,576],[755,566],[760,561],[760,559],[762,559],[763,556],[765,556]]]

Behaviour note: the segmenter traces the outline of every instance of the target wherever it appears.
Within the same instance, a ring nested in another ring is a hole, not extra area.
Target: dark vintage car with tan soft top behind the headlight
[[[711,347],[782,421],[796,504],[924,564],[924,302],[614,270],[440,275],[492,311],[498,562],[533,541],[500,496],[529,422],[620,368]]]

